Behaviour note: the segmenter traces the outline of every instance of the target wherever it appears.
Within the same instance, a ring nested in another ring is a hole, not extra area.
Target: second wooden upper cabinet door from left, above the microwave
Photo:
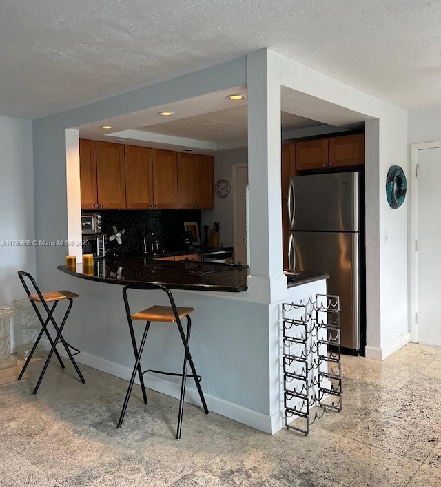
[[[125,208],[124,146],[96,142],[98,203],[102,209]]]

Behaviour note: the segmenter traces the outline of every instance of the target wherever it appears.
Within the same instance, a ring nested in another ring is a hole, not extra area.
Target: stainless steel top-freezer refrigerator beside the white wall
[[[289,268],[329,273],[340,296],[341,346],[360,350],[360,214],[358,172],[289,180]]]

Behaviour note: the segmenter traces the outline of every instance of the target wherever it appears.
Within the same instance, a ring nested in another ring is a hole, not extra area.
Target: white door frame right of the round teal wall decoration
[[[418,178],[416,168],[418,165],[418,151],[424,149],[441,148],[441,141],[411,144],[411,167],[409,177],[410,189],[410,232],[408,241],[409,258],[409,320],[411,330],[411,342],[418,343],[418,252],[416,241],[418,240]]]

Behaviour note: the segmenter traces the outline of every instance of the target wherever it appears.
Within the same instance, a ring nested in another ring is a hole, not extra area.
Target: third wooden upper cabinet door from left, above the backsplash
[[[128,209],[153,207],[152,149],[125,145],[125,200]]]

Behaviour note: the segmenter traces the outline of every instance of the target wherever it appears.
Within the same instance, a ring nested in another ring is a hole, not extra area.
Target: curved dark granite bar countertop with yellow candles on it
[[[190,253],[189,251],[187,253]],[[75,269],[59,265],[71,276],[110,284],[149,282],[163,284],[170,289],[190,291],[247,291],[248,267],[207,262],[172,262],[134,256],[95,259],[93,270],[83,265]]]

